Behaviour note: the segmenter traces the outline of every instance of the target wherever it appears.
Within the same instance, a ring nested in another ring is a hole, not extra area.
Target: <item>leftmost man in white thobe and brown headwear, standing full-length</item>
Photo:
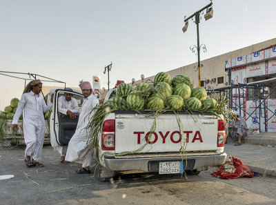
[[[51,103],[47,106],[43,97],[39,95],[41,89],[42,83],[39,79],[30,81],[23,90],[23,95],[12,120],[13,130],[18,130],[18,120],[23,113],[23,135],[26,144],[25,163],[27,167],[43,166],[38,162],[41,159],[46,128],[43,113],[52,107],[52,98]]]

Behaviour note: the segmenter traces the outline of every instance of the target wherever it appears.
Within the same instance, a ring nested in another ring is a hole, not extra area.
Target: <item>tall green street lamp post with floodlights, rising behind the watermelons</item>
[[[185,19],[185,26],[182,28],[183,32],[186,32],[187,28],[188,28],[188,20],[195,17],[195,23],[197,24],[197,46],[193,45],[190,46],[190,50],[192,50],[192,52],[195,52],[195,48],[197,49],[197,71],[198,71],[198,80],[199,80],[199,87],[201,87],[201,80],[200,80],[200,68],[201,68],[201,64],[200,64],[200,48],[202,46],[202,48],[204,49],[204,52],[206,52],[206,46],[204,44],[201,44],[201,46],[199,46],[199,20],[201,19],[201,17],[199,17],[199,14],[204,10],[206,10],[206,14],[204,15],[204,18],[206,19],[206,21],[210,18],[213,17],[213,8],[209,8],[210,6],[212,6],[213,3],[211,1],[211,3],[209,3],[207,6],[204,6],[204,8],[201,8],[200,10],[198,10],[197,12],[195,12],[193,15],[191,15],[190,17],[188,17],[187,19]]]

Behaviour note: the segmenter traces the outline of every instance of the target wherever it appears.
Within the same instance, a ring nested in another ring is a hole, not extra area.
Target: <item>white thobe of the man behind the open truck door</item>
[[[79,106],[77,104],[77,100],[74,97],[68,101],[65,96],[61,96],[58,99],[58,110],[59,113],[67,115],[67,111],[70,110],[72,113],[79,113]],[[67,146],[58,146],[54,147],[54,150],[57,150],[61,156],[65,156],[67,152]]]

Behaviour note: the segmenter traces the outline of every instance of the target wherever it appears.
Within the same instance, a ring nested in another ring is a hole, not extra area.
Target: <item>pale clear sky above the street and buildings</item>
[[[197,29],[184,17],[208,0],[0,0],[0,71],[30,72],[77,87],[131,82],[188,64],[197,56]],[[201,60],[275,38],[276,1],[214,0],[213,18],[199,23]],[[18,75],[17,75],[18,76]],[[26,75],[19,75],[26,78]],[[19,77],[18,76],[18,77]],[[20,99],[25,81],[0,75],[0,110]],[[44,86],[63,86],[44,82]]]

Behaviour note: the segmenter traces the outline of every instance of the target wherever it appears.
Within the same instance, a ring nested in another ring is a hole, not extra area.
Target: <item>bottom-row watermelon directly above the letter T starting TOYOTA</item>
[[[143,97],[143,93],[133,90],[130,92],[128,97],[126,97],[126,104],[128,108],[133,110],[144,110],[146,105],[146,100]]]

